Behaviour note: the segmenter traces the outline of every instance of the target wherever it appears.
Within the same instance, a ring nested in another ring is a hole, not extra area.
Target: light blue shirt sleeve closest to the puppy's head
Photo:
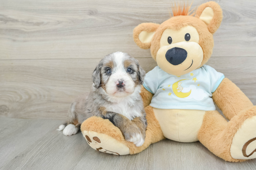
[[[158,66],[146,74],[143,86],[150,93],[156,93],[158,88]]]

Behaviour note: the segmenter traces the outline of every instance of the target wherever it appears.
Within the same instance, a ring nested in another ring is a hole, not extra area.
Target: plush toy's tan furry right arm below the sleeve
[[[240,111],[253,106],[250,99],[228,78],[224,78],[212,93],[212,99],[229,120]]]

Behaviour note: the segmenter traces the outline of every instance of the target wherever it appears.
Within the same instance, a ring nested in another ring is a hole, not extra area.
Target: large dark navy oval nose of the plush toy
[[[174,47],[168,49],[165,53],[165,58],[172,65],[176,66],[181,64],[187,58],[187,51],[183,48]]]

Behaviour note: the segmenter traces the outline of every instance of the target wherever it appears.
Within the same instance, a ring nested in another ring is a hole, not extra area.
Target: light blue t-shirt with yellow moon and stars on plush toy
[[[156,66],[146,74],[143,86],[154,94],[154,108],[207,111],[216,110],[211,97],[223,79],[224,74],[207,65],[178,77]]]

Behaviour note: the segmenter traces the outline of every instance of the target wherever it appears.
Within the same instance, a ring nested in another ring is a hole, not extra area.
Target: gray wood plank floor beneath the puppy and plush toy
[[[82,133],[64,136],[61,120],[0,119],[0,169],[256,169],[256,159],[226,162],[200,142],[162,140],[135,155],[92,149]]]

